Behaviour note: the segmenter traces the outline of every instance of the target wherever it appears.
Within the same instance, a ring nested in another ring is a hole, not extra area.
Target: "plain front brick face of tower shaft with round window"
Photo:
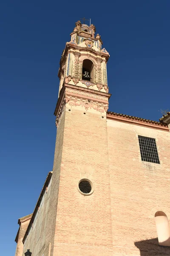
[[[113,244],[106,115],[68,108],[53,255],[109,256]],[[94,183],[92,195],[79,193],[81,178]]]

